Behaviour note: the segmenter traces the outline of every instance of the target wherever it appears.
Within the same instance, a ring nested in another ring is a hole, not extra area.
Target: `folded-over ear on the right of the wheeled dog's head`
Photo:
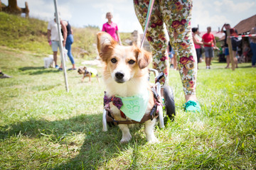
[[[139,65],[139,68],[144,69],[147,67],[152,60],[151,53],[140,49],[137,46],[134,46],[134,52],[135,56],[137,57],[137,64]]]

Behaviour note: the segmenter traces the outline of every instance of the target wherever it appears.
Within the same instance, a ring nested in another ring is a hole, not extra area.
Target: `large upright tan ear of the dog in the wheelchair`
[[[109,33],[97,33],[97,50],[102,60],[104,60],[102,54],[108,52],[109,50],[112,50],[114,45],[117,45],[117,42],[112,38]]]

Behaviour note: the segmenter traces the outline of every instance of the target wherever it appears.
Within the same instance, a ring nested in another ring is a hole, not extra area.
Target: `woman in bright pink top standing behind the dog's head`
[[[112,38],[114,38],[114,40],[116,40],[119,43],[119,45],[122,45],[122,42],[118,33],[117,23],[112,22],[112,18],[113,18],[112,13],[108,12],[106,14],[106,18],[107,18],[107,23],[103,24],[102,31],[109,33],[112,36]]]

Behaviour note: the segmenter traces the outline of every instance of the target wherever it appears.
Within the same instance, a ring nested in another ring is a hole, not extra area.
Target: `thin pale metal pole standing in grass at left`
[[[64,60],[64,55],[63,55],[63,43],[62,43],[62,36],[61,36],[61,31],[60,31],[60,18],[58,16],[58,5],[57,5],[57,0],[54,1],[54,6],[55,6],[55,16],[56,16],[56,22],[58,26],[58,37],[59,37],[59,43],[60,43],[60,57],[61,57],[61,62],[63,63],[63,72],[64,72],[64,78],[65,78],[65,88],[66,91],[68,92],[68,78],[67,78],[67,72],[66,72],[66,67],[65,67],[65,60]]]

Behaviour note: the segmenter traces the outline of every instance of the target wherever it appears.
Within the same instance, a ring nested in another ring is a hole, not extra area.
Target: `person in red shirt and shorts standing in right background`
[[[216,45],[216,40],[214,38],[214,35],[210,33],[211,28],[207,28],[207,33],[205,33],[202,37],[203,41],[203,47],[205,49],[205,55],[206,55],[206,69],[210,69],[210,62],[212,57],[214,56],[213,47]]]

